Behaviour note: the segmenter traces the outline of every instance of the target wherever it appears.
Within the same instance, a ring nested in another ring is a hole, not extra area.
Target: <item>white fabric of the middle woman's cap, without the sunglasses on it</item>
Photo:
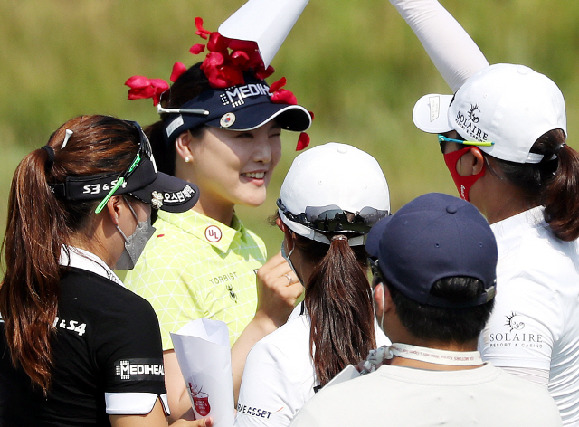
[[[329,205],[354,214],[365,207],[390,212],[388,183],[376,159],[337,142],[310,148],[296,157],[281,185],[280,199],[295,215],[308,206]],[[290,221],[280,209],[278,212],[291,231],[319,240],[317,232]]]

